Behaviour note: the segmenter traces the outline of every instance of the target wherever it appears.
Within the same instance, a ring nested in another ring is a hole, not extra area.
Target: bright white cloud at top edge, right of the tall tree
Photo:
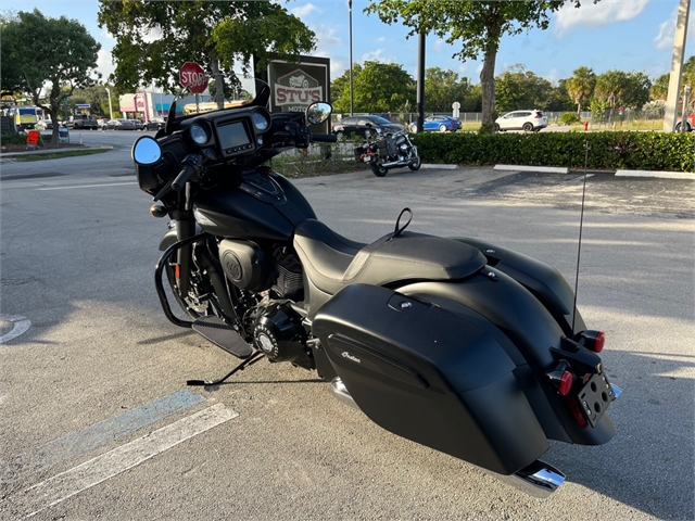
[[[626,22],[639,16],[649,0],[603,0],[598,3],[582,2],[577,9],[572,3],[566,3],[557,13],[553,24],[555,36],[561,36],[573,27],[599,27]]]

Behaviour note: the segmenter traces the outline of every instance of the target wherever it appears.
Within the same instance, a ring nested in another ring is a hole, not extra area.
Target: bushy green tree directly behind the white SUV
[[[500,113],[520,109],[547,110],[551,104],[553,84],[516,64],[495,79],[495,99]]]

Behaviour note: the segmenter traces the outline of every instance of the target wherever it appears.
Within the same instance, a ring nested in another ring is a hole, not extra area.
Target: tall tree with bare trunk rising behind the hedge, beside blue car
[[[482,122],[483,128],[492,131],[495,60],[502,36],[518,35],[533,27],[546,29],[549,13],[566,2],[581,4],[580,0],[371,0],[365,11],[376,13],[387,24],[402,20],[410,28],[408,37],[434,33],[447,43],[458,42],[462,48],[454,58],[463,61],[476,60],[482,54]]]

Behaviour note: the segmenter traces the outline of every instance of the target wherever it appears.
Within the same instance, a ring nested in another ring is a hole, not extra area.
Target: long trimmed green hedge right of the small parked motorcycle
[[[666,132],[418,134],[428,163],[695,171],[695,137]]]

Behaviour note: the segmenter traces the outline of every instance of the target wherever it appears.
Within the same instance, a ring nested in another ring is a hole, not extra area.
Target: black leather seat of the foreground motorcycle
[[[486,262],[477,247],[451,239],[402,232],[367,245],[345,239],[315,219],[296,227],[294,247],[309,280],[331,295],[354,283],[463,279]]]

